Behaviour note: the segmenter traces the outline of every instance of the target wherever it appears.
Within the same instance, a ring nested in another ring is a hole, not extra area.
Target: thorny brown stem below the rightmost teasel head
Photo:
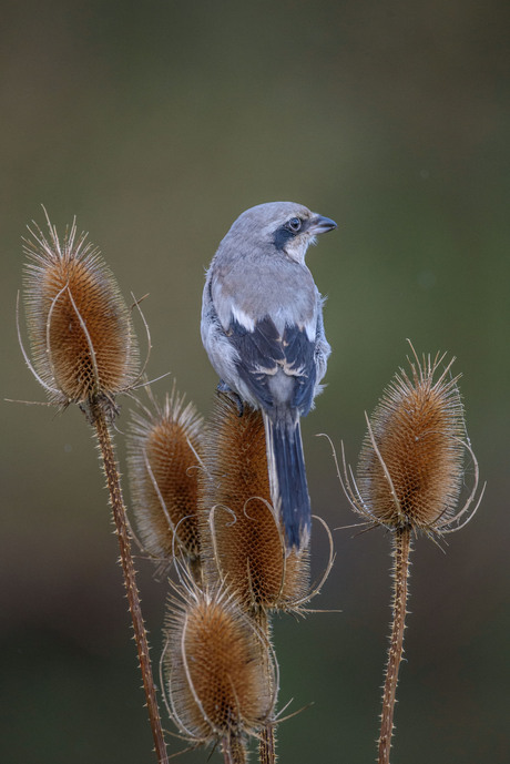
[[[394,618],[382,692],[380,715],[378,764],[389,764],[391,734],[394,729],[395,697],[397,694],[398,670],[402,658],[404,630],[406,628],[407,581],[409,575],[409,552],[411,529],[398,528],[394,533]]]

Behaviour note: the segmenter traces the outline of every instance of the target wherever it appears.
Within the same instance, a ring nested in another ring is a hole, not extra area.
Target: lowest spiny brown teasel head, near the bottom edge
[[[278,676],[271,646],[225,588],[186,583],[177,592],[163,655],[169,713],[193,743],[244,746],[273,721]]]

